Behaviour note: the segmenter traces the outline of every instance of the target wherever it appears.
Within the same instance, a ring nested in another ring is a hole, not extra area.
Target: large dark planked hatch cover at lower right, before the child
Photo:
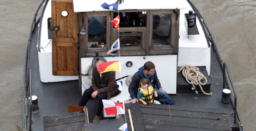
[[[129,103],[125,104],[125,107],[126,112],[127,109],[133,109],[133,121],[140,119],[143,121],[143,129],[148,131],[231,131],[225,109],[191,108],[163,104],[143,105],[142,103]],[[138,108],[140,109],[138,110]],[[171,117],[170,114],[172,114]],[[128,130],[130,130],[130,124],[128,121],[127,123]],[[140,122],[134,122],[134,126],[141,125],[138,123]]]

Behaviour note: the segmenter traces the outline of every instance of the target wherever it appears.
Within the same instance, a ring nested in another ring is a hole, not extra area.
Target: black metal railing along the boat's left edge
[[[40,20],[40,17],[37,19],[37,14],[40,11],[42,5],[46,0],[42,0],[40,5],[37,8],[36,13],[34,14],[34,18],[30,28],[30,35],[28,38],[27,44],[27,52],[24,61],[23,67],[23,129],[24,131],[31,131],[31,123],[32,123],[32,84],[31,84],[31,69],[30,69],[30,48],[32,43],[33,31],[36,28],[37,23]],[[25,119],[28,116],[28,121]],[[29,129],[27,130],[27,122],[29,122]]]

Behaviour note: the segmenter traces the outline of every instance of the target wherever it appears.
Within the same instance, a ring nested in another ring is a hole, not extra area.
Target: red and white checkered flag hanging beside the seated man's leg
[[[124,114],[124,103],[102,100],[107,115]]]

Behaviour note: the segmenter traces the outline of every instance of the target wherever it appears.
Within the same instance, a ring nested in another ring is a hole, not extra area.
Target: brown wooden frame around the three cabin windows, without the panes
[[[132,55],[166,55],[166,54],[178,54],[178,42],[179,42],[179,16],[176,17],[175,10],[126,10],[122,12],[146,12],[146,26],[143,27],[120,27],[119,32],[130,32],[138,31],[142,32],[142,46],[135,48],[121,48],[121,56],[132,56]],[[179,10],[178,10],[179,11]],[[107,21],[112,21],[114,13],[117,11],[102,11],[102,12],[82,12],[84,13],[84,27],[88,32],[88,16],[104,15],[107,16]],[[171,14],[171,46],[170,48],[164,47],[152,47],[153,37],[153,15],[159,13],[170,13]],[[81,17],[81,14],[79,15]],[[81,20],[79,21],[80,29],[82,28]],[[91,56],[108,56],[107,50],[118,38],[118,30],[112,26],[111,22],[107,22],[106,29],[106,47],[105,48],[88,48],[88,33],[84,36],[80,35],[80,57],[91,57]],[[150,44],[149,44],[150,43]],[[116,55],[119,55],[119,51]]]

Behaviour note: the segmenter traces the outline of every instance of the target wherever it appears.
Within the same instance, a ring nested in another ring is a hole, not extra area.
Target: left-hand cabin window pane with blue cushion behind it
[[[88,48],[106,47],[106,22],[107,16],[88,16]]]

